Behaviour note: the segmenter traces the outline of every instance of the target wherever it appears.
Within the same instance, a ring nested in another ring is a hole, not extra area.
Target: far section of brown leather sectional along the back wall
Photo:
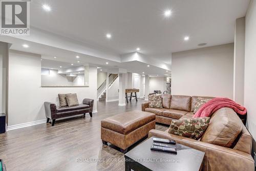
[[[148,102],[145,102],[142,103],[142,111],[156,114],[156,122],[169,125],[173,119],[180,119],[183,116],[192,117],[198,97],[164,94],[162,95],[163,108],[148,108]]]

